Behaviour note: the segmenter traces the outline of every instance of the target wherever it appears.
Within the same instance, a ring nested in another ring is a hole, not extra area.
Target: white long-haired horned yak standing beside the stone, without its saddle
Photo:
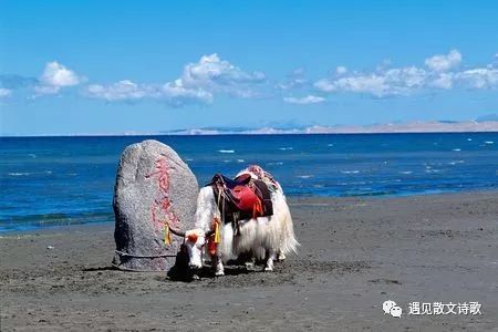
[[[219,228],[221,240],[211,255],[216,276],[225,274],[224,262],[236,259],[242,253],[250,253],[257,259],[264,259],[264,271],[272,271],[277,255],[279,259],[284,259],[287,253],[295,252],[299,246],[281,186],[259,166],[250,166],[241,170],[237,177],[242,174],[249,174],[251,178],[263,180],[267,185],[273,186],[271,191],[273,215],[239,220],[237,235],[235,235],[232,222],[221,225]],[[212,186],[206,186],[200,189],[197,199],[196,228],[187,230],[185,234],[172,229],[176,235],[185,236],[191,269],[203,267],[204,255],[208,251],[206,248],[208,246],[207,239],[215,232],[212,220],[221,214]],[[222,216],[220,220],[224,220]],[[221,224],[224,222],[221,221]]]

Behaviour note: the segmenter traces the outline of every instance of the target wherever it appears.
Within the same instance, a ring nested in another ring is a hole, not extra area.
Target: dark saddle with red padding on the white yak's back
[[[268,217],[273,215],[271,193],[267,184],[242,174],[235,179],[216,174],[208,186],[212,187],[216,204],[225,222]]]

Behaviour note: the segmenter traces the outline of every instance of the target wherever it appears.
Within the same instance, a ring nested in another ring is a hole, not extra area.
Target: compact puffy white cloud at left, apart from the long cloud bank
[[[77,85],[81,81],[82,79],[72,70],[56,61],[49,62],[39,80],[39,84],[34,86],[35,96],[56,94],[62,87]]]

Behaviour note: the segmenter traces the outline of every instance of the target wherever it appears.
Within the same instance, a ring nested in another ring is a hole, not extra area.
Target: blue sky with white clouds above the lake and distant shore
[[[0,1],[0,133],[497,113],[497,2],[434,2]]]

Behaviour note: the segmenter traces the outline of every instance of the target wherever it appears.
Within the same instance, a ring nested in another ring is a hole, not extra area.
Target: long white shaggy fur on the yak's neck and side
[[[273,216],[260,217],[239,221],[240,235],[234,237],[231,222],[221,228],[221,243],[218,255],[224,261],[237,258],[240,253],[252,252],[263,259],[267,250],[280,251],[283,255],[297,251],[292,217],[283,193],[277,190],[271,194]],[[196,227],[208,231],[212,218],[219,215],[212,188],[204,187],[197,198]]]

